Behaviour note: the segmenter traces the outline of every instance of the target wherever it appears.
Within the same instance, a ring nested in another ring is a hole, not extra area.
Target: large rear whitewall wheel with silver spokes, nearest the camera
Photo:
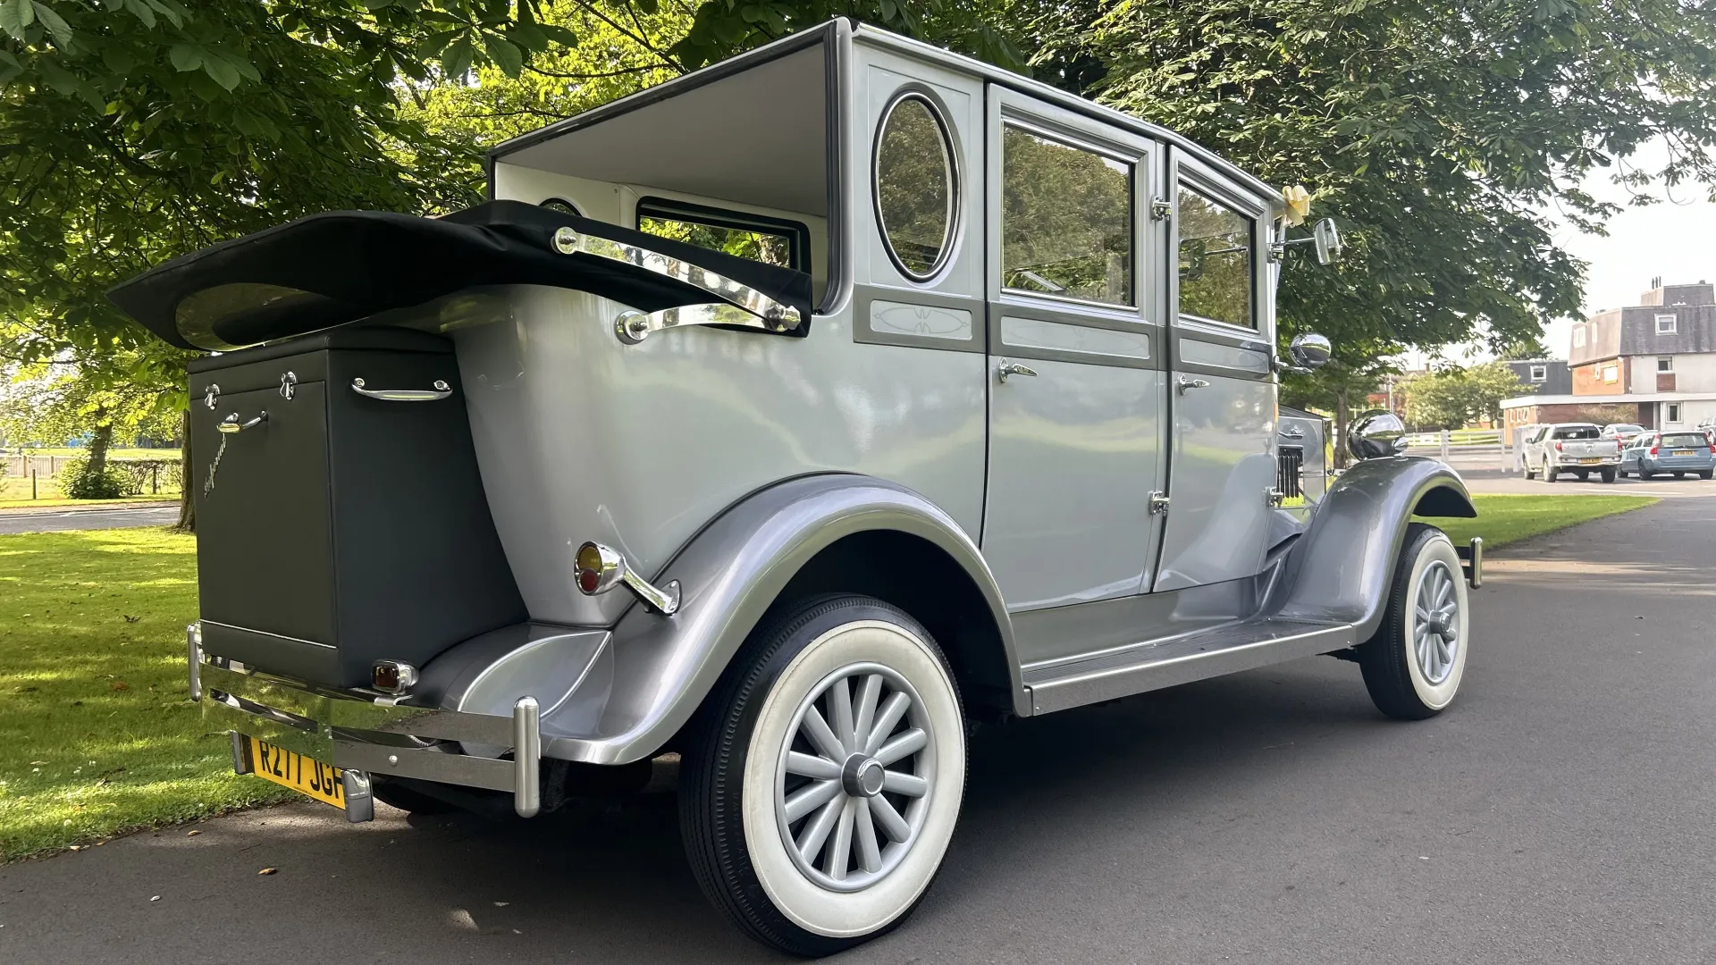
[[[680,826],[704,895],[791,955],[897,926],[964,795],[959,690],[930,634],[863,596],[760,625],[702,709]]]

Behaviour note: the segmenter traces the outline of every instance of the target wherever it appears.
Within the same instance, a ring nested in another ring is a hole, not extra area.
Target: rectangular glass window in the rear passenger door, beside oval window
[[[1133,163],[1014,125],[1000,141],[1000,283],[1134,306]]]

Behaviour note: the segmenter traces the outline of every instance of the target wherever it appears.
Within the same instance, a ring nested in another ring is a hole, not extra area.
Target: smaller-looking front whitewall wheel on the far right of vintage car
[[[1376,709],[1407,721],[1441,713],[1465,675],[1467,598],[1460,556],[1433,525],[1407,525],[1383,623],[1359,646]]]

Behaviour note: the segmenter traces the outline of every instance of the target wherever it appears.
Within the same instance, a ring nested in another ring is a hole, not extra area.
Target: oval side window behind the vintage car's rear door
[[[923,282],[947,259],[959,182],[947,125],[923,94],[903,94],[882,115],[875,144],[875,209],[894,264]]]

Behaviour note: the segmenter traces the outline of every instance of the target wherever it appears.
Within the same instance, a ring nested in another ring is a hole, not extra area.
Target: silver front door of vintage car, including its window
[[[1277,476],[1266,204],[1170,151],[1172,450],[1155,589],[1263,568]]]

